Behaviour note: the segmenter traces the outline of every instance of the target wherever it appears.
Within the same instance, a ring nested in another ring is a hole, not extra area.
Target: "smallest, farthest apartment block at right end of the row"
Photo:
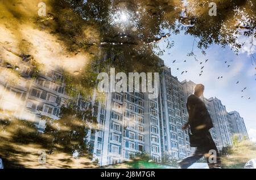
[[[238,140],[249,139],[245,122],[240,114],[236,111],[228,113],[228,119],[232,130],[232,135],[237,136]]]

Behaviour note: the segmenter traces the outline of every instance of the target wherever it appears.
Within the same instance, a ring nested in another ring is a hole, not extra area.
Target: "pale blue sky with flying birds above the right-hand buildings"
[[[245,40],[244,37],[240,39]],[[187,79],[195,83],[203,83],[205,97],[219,98],[228,112],[237,110],[245,119],[250,138],[256,142],[256,65],[251,62],[249,55],[249,53],[254,53],[254,57],[256,57],[255,46],[251,48],[247,43],[236,55],[229,46],[223,49],[219,45],[211,45],[206,50],[207,54],[203,55],[195,42],[193,52],[199,60],[197,62],[194,57],[187,56],[192,50],[194,37],[180,33],[170,36],[168,40],[174,41],[174,47],[167,50],[165,49],[166,42],[160,42],[159,46],[166,50],[160,58],[167,66],[171,67],[172,75],[177,76],[180,81]],[[176,62],[172,63],[175,59]],[[205,59],[209,59],[207,63],[205,63]],[[225,63],[225,61],[227,62]],[[203,63],[200,65],[200,62]],[[199,76],[202,66],[204,66],[203,74]],[[181,75],[182,71],[188,72]],[[219,76],[223,78],[217,79]],[[239,81],[238,84],[236,84],[237,81]],[[241,92],[245,87],[245,91]]]

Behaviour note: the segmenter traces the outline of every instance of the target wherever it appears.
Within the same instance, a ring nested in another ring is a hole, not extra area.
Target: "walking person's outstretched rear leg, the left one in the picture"
[[[187,169],[189,166],[194,164],[196,161],[200,160],[200,158],[203,156],[204,156],[204,153],[201,151],[200,148],[197,148],[195,153],[184,158],[181,162],[179,162],[180,168]]]

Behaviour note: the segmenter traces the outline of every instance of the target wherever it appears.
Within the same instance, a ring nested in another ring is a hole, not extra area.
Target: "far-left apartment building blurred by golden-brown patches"
[[[58,119],[61,106],[66,105],[67,100],[71,98],[64,91],[63,70],[52,67],[47,72],[38,73],[36,78],[32,78],[34,67],[26,62],[20,62],[15,71],[20,74],[16,77],[15,83],[11,83],[7,77],[1,78],[4,96],[0,101],[5,106],[10,104],[17,118],[34,121],[38,130],[43,132],[46,121],[40,117],[46,115],[52,119]],[[11,100],[7,95],[11,95],[14,99]]]

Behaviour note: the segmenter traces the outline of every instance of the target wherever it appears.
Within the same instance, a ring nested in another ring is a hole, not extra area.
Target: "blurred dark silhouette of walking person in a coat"
[[[199,98],[203,93],[204,85],[197,84],[194,94],[190,95],[187,100],[188,122],[183,125],[182,129],[188,128],[191,147],[196,147],[196,151],[179,162],[181,169],[187,169],[203,156],[207,158],[210,169],[221,167],[218,149],[209,132],[213,127],[212,119],[204,102]]]

